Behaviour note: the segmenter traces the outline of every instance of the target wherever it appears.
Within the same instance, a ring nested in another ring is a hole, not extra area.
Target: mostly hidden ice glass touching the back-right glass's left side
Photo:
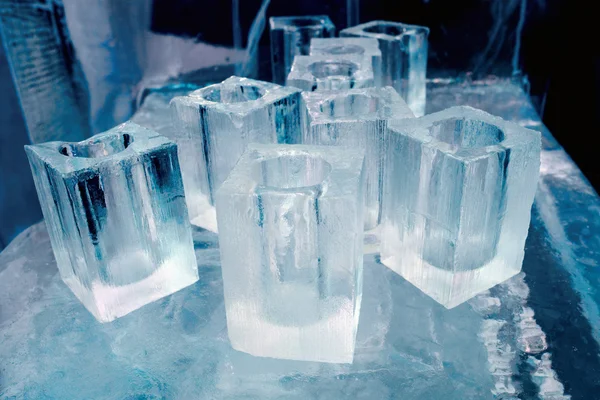
[[[310,42],[310,55],[338,55],[357,54],[371,59],[375,86],[383,86],[381,76],[381,50],[377,39],[371,38],[328,38],[312,39]]]

